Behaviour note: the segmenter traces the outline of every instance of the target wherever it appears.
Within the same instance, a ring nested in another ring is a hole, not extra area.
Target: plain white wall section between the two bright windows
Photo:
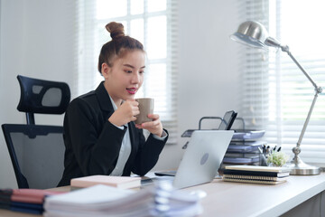
[[[186,129],[197,129],[205,116],[222,117],[237,110],[236,42],[229,35],[237,30],[237,0],[179,0],[179,103],[177,146],[166,146],[157,169],[177,167]],[[218,126],[204,120],[202,127]]]

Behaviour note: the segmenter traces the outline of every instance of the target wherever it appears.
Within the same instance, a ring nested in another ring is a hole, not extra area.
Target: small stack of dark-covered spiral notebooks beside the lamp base
[[[281,184],[287,181],[289,174],[288,167],[228,165],[223,171],[222,179],[227,182]]]

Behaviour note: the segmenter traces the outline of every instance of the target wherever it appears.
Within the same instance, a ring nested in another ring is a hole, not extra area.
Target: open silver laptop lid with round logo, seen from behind
[[[233,130],[196,130],[177,169],[173,186],[185,188],[211,182],[226,154]]]

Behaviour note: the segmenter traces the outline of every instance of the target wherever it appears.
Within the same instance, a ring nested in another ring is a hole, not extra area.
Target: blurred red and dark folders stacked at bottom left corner
[[[0,189],[0,208],[42,214],[45,197],[60,193],[40,189]]]

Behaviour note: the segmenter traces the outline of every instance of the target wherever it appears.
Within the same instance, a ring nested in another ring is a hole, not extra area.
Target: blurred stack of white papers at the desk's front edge
[[[103,184],[46,198],[44,216],[195,216],[202,212],[195,194],[158,183],[140,191]]]

